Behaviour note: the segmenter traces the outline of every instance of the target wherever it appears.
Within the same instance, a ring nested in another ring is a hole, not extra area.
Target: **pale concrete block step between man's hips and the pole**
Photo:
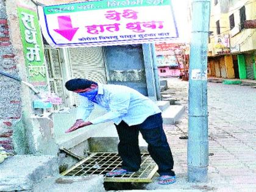
[[[183,105],[170,105],[162,112],[163,124],[175,124],[184,110],[185,107]]]

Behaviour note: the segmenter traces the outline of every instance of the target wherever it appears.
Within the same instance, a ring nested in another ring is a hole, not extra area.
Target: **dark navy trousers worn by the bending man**
[[[141,154],[138,134],[141,132],[148,143],[148,151],[158,165],[160,176],[175,176],[171,149],[163,131],[161,113],[149,116],[143,123],[128,126],[124,121],[116,125],[119,136],[118,154],[122,159],[122,168],[127,171],[138,171],[141,165]]]

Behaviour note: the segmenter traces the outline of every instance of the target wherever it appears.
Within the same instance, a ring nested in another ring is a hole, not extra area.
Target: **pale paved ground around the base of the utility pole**
[[[177,182],[148,190],[256,191],[256,90],[241,85],[208,83],[209,166],[207,183],[187,181],[188,82],[169,78],[174,99],[186,113],[175,126],[165,126],[174,155]]]

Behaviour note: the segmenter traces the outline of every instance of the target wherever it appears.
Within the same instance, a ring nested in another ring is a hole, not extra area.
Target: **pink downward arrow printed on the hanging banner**
[[[55,32],[62,35],[67,40],[71,41],[79,27],[73,28],[70,16],[58,16],[59,29],[54,29]]]

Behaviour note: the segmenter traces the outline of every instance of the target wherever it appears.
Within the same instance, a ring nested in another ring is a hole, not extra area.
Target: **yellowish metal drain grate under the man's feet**
[[[91,153],[84,160],[76,163],[70,169],[62,172],[63,176],[90,176],[104,174],[104,182],[152,182],[157,172],[157,165],[148,153],[141,154],[141,168],[133,174],[117,177],[106,177],[105,174],[113,169],[121,168],[121,158],[117,153]]]

